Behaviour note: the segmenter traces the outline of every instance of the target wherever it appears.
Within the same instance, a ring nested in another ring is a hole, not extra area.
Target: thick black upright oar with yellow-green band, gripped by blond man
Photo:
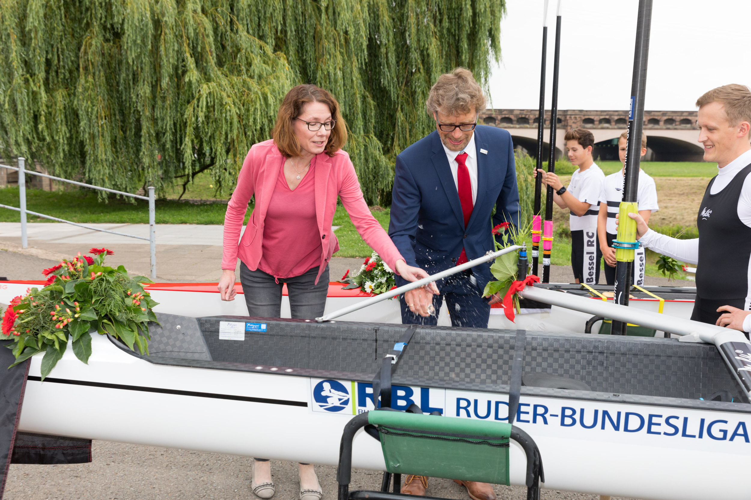
[[[613,241],[615,250],[615,298],[616,304],[629,305],[629,290],[634,266],[636,221],[629,212],[638,214],[636,196],[639,184],[641,160],[641,128],[644,122],[644,91],[647,88],[647,56],[650,51],[650,25],[652,0],[639,0],[634,49],[634,72],[631,80],[631,108],[629,109],[629,133],[626,138],[626,165],[623,167],[623,200],[618,208],[618,235]],[[628,322],[613,320],[611,333],[626,335]]]

